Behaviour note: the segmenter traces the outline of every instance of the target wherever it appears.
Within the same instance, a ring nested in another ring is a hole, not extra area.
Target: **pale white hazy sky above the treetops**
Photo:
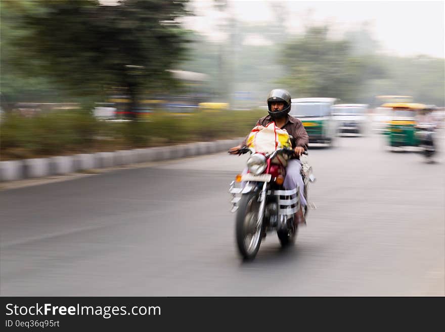
[[[413,56],[426,54],[444,58],[444,1],[290,1],[229,0],[231,11],[247,22],[271,22],[284,19],[289,31],[302,32],[305,24],[330,23],[334,34],[360,27],[368,22],[369,30],[381,49],[388,54]],[[274,17],[271,6],[282,4],[283,17]],[[191,0],[196,16],[186,21],[188,28],[213,40],[224,39],[218,23],[226,20],[214,8],[213,0]],[[252,36],[261,42],[260,36]],[[263,42],[266,42],[262,40]],[[254,42],[254,41],[253,41]]]

